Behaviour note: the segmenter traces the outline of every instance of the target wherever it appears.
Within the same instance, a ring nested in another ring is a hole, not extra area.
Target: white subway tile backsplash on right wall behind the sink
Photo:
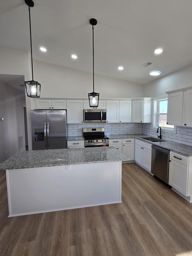
[[[146,135],[150,135],[153,137],[157,137],[157,131],[152,130],[152,124],[142,124],[142,133]],[[160,130],[159,130],[160,132]],[[159,135],[159,134],[158,134]],[[172,132],[163,132],[161,133],[162,139],[170,140],[182,144],[186,144],[192,146],[192,127],[176,127],[176,134]]]

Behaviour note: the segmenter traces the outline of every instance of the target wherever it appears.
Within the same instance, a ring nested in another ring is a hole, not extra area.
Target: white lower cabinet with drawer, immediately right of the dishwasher
[[[188,163],[188,157],[170,152],[169,185],[184,196],[187,196]]]

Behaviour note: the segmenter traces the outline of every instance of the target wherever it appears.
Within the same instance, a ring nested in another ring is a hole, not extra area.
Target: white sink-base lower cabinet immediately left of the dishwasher
[[[135,162],[149,172],[151,172],[151,146],[152,144],[135,140]]]

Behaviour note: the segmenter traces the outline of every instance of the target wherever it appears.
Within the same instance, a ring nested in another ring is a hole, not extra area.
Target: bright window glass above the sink
[[[167,125],[167,99],[157,101],[157,126],[174,128],[174,125]]]

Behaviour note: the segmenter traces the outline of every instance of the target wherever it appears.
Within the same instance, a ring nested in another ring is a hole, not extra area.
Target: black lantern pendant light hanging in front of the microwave
[[[97,20],[91,19],[89,23],[92,25],[92,31],[94,30],[95,25],[97,25]],[[93,92],[88,93],[89,97],[89,106],[90,107],[98,107],[99,103],[99,93],[94,92],[94,37],[93,37]]]

